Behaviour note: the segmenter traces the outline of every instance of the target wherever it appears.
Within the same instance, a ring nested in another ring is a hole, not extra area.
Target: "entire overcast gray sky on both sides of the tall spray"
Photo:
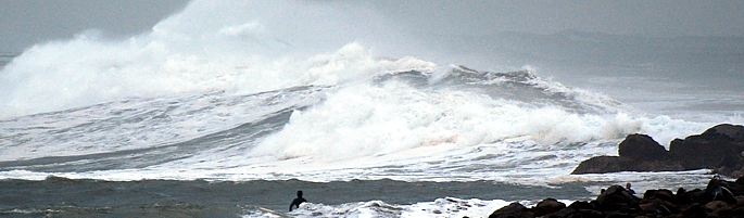
[[[0,0],[0,52],[86,29],[122,37],[150,29],[187,0]],[[744,36],[742,0],[487,0],[358,2],[416,33],[552,34],[564,29],[641,36]]]

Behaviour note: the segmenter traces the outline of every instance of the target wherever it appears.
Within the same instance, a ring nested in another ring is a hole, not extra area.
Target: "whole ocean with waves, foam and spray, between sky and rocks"
[[[744,124],[744,38],[409,34],[351,3],[219,3],[0,55],[0,216],[487,217],[703,188],[708,170],[570,172],[629,133]]]

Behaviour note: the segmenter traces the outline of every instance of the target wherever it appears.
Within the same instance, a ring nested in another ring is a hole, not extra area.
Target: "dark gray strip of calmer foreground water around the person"
[[[297,190],[312,203],[337,205],[383,201],[414,204],[439,197],[501,198],[591,197],[587,183],[560,188],[524,187],[490,181],[403,182],[352,180],[335,182],[203,180],[101,181],[50,177],[42,181],[0,181],[0,216],[11,217],[239,217],[260,208],[281,215]]]

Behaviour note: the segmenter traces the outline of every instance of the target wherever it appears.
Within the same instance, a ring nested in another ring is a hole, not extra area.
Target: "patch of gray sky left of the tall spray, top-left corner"
[[[0,0],[0,51],[71,38],[87,29],[118,37],[148,30],[187,0]]]

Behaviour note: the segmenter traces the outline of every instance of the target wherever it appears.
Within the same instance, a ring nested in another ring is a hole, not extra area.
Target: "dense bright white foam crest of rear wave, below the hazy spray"
[[[213,54],[210,54],[213,55]],[[109,46],[78,38],[37,46],[9,65],[0,82],[5,118],[116,101],[226,90],[255,93],[292,86],[337,85],[434,64],[376,59],[358,43],[306,59],[185,55],[161,48]]]

